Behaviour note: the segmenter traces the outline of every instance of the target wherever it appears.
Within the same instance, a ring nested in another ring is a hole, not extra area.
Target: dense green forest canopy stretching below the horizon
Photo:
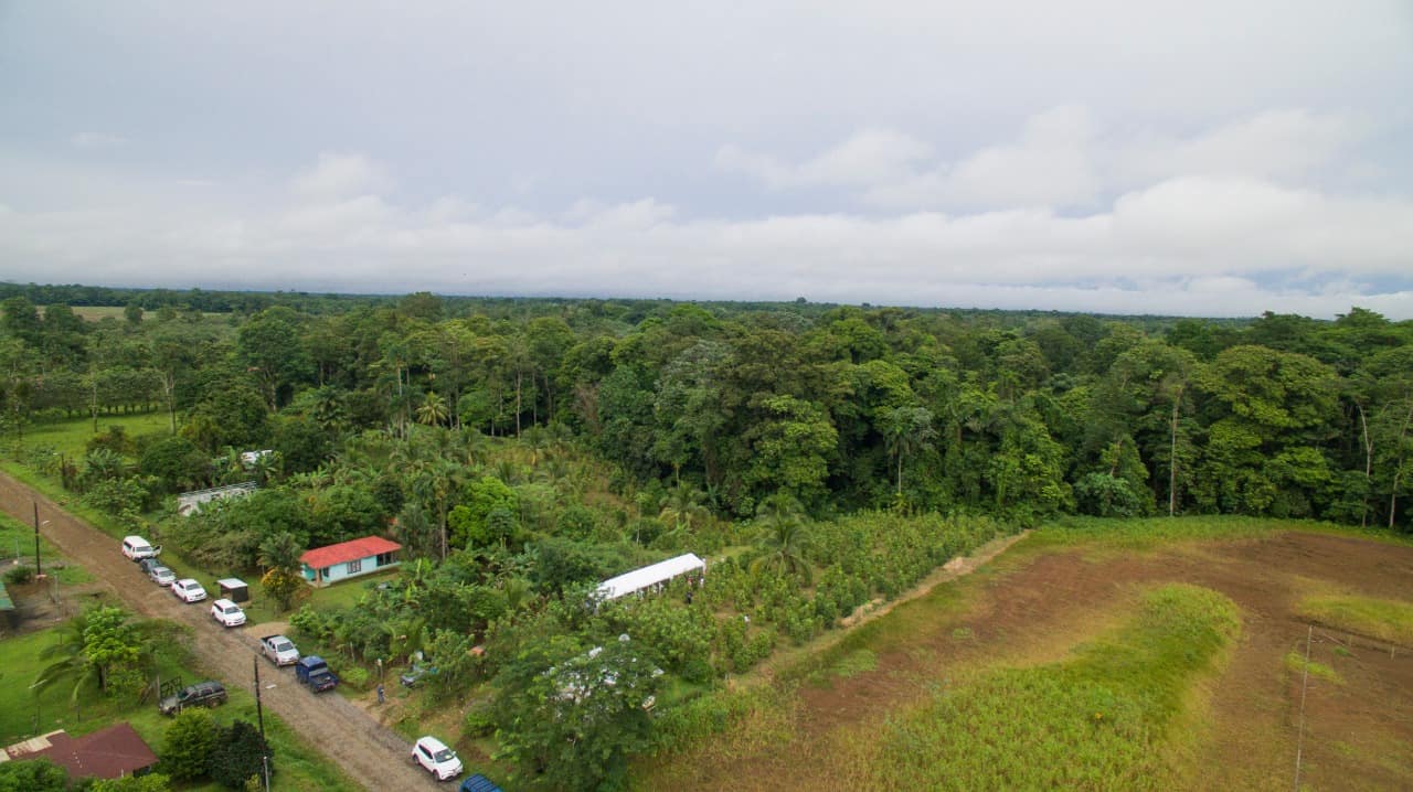
[[[367,431],[555,432],[639,486],[685,483],[719,517],[788,496],[817,515],[1409,527],[1413,326],[1359,308],[1234,322],[803,299],[6,291],[11,435],[52,415],[160,408],[202,455],[274,448],[288,476]],[[123,318],[73,311],[114,298]]]

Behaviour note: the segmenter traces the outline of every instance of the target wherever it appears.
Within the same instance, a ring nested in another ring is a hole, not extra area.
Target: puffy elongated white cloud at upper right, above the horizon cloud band
[[[1368,123],[1342,114],[1267,110],[1188,136],[1160,136],[1106,128],[1088,109],[1065,104],[1027,117],[1015,141],[955,160],[907,134],[872,130],[798,165],[733,145],[721,148],[715,164],[773,191],[855,188],[858,205],[873,209],[1063,210],[1186,176],[1301,184],[1345,162],[1369,131]]]

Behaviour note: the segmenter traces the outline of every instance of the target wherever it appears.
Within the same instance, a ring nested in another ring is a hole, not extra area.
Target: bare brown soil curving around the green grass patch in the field
[[[999,569],[998,569],[999,568]],[[805,789],[828,785],[845,734],[868,738],[890,710],[926,697],[958,673],[1065,656],[1118,624],[1137,592],[1170,582],[1215,589],[1242,610],[1242,638],[1222,673],[1205,686],[1207,713],[1188,789],[1290,789],[1300,741],[1301,676],[1286,669],[1303,655],[1308,624],[1294,613],[1313,586],[1413,600],[1413,548],[1355,538],[1284,532],[1239,542],[1176,545],[1154,553],[1027,552],[961,583],[961,616],[938,617],[906,645],[877,652],[873,671],[803,686],[790,713],[793,738],[756,750],[690,757],[692,789]],[[1342,683],[1311,678],[1306,690],[1301,786],[1413,788],[1413,647],[1316,627],[1311,661]],[[865,730],[859,733],[858,730]],[[834,775],[838,779],[838,775]]]

